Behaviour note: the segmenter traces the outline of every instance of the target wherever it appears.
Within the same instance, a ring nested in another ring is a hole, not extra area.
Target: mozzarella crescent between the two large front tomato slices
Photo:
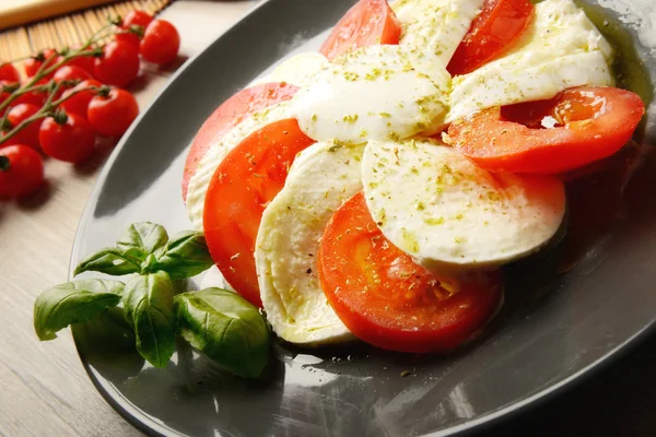
[[[324,294],[317,251],[330,216],[362,189],[362,145],[320,142],[294,161],[284,188],[265,209],[255,262],[267,319],[283,340],[352,340]]]

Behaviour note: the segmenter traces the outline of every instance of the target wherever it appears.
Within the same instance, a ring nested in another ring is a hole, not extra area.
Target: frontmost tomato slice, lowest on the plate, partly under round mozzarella
[[[499,272],[436,277],[393,246],[362,192],[328,223],[318,256],[328,302],[359,339],[400,352],[448,351],[471,338],[496,309]]]

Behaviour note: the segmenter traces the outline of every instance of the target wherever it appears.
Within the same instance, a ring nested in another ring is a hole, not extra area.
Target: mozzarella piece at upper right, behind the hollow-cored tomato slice
[[[492,106],[551,98],[578,85],[612,85],[612,50],[571,0],[544,0],[503,58],[454,78],[447,121]]]

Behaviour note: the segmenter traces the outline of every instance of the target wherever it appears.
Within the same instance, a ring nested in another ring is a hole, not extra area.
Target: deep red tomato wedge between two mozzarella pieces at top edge
[[[467,74],[496,58],[530,22],[530,0],[485,0],[446,69]]]

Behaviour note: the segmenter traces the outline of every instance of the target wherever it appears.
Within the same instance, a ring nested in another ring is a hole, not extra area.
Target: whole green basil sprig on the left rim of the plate
[[[174,280],[195,276],[212,263],[202,233],[181,232],[169,239],[161,225],[134,223],[115,247],[86,258],[74,274],[137,274],[126,284],[78,280],[46,290],[34,304],[34,328],[40,340],[55,339],[55,333],[69,324],[85,338],[102,338],[104,343],[114,335],[120,346],[117,350],[128,350],[126,343],[136,345],[155,367],[168,364],[175,336],[180,334],[223,368],[257,378],[268,361],[270,332],[256,307],[221,288],[174,298],[174,285],[180,284]],[[116,307],[120,303],[122,308]],[[125,318],[127,326],[117,323],[117,317]]]

